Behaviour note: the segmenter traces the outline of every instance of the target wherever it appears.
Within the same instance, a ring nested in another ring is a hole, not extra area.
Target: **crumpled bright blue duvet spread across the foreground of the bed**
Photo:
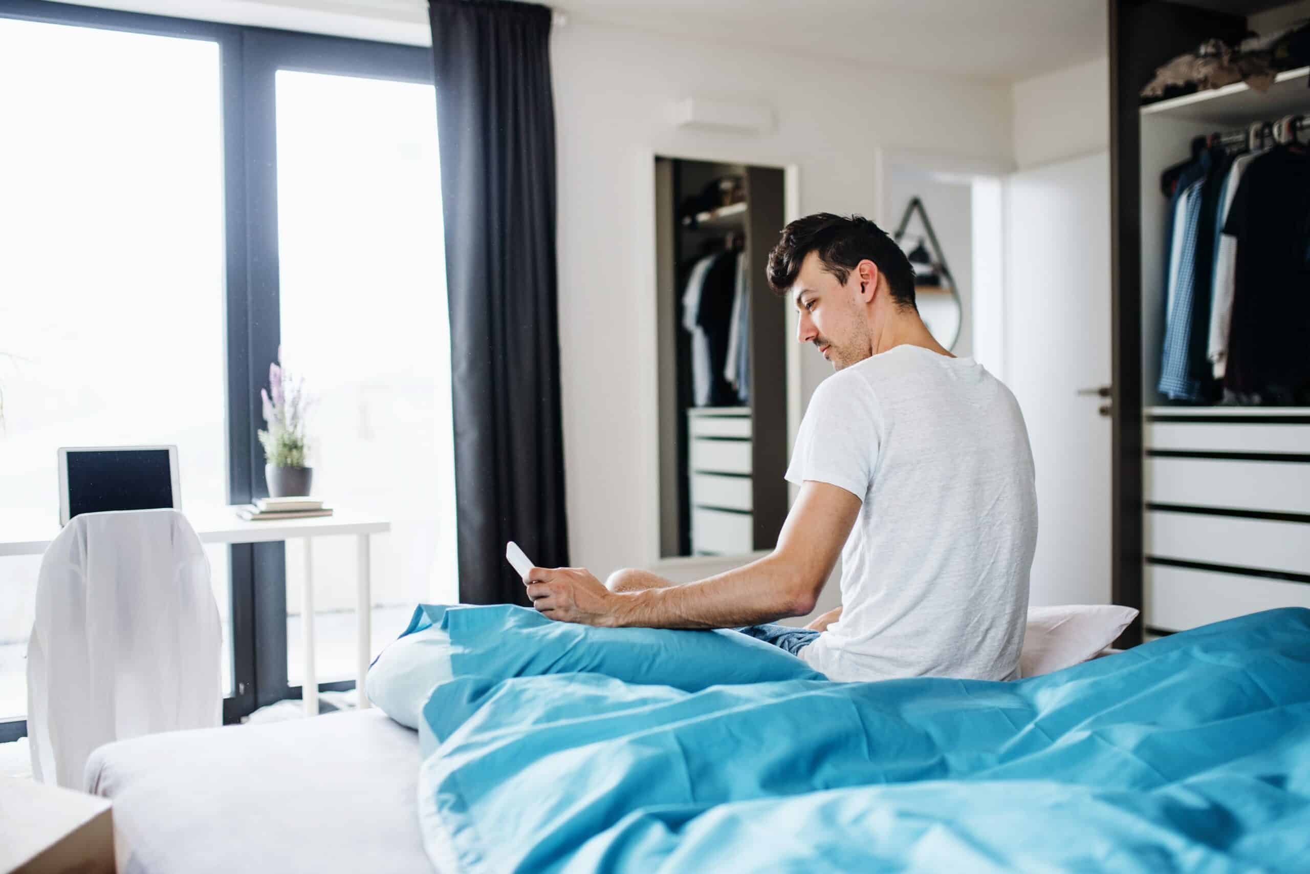
[[[1015,683],[465,663],[422,718],[443,874],[1310,870],[1305,609]]]

